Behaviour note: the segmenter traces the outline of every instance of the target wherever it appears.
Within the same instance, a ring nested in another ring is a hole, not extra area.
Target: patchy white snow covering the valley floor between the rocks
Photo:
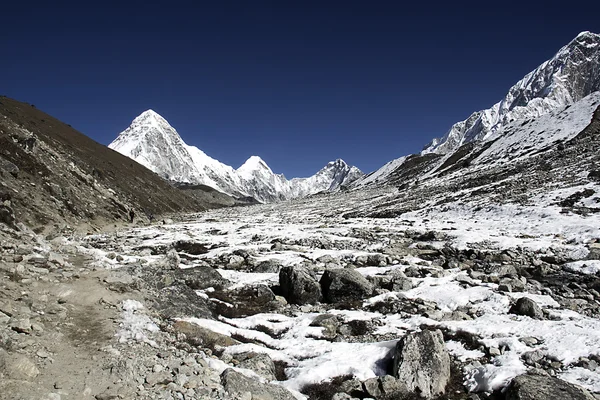
[[[87,248],[85,251],[94,254],[98,265],[115,268],[154,263],[160,258],[144,249],[169,247],[182,240],[201,243],[210,250],[206,254],[189,257],[181,267],[208,263],[230,280],[232,287],[257,283],[272,286],[278,282],[276,272],[253,273],[229,265],[235,251],[251,254],[254,265],[269,260],[280,266],[308,263],[321,272],[326,268],[359,264],[361,258],[364,260],[368,256],[385,253],[385,263],[358,268],[365,276],[414,267],[437,268],[439,273],[410,277],[413,289],[381,291],[372,298],[364,299],[363,306],[354,310],[287,306],[281,312],[242,318],[221,316],[212,320],[194,315],[186,318],[215,332],[252,342],[228,347],[227,354],[263,352],[273,360],[284,362],[287,380],[279,384],[293,390],[336,376],[354,375],[366,380],[385,374],[385,365],[396,341],[425,324],[477,338],[480,348],[469,348],[458,340],[447,340],[446,343],[450,353],[463,363],[465,386],[471,391],[502,388],[514,376],[529,368],[523,355],[539,351],[541,357],[560,363],[560,378],[600,392],[600,368],[591,370],[578,366],[582,358],[600,356],[600,320],[564,309],[548,290],[540,291],[532,285],[525,285],[525,292],[500,291],[497,283],[470,278],[460,268],[442,270],[419,257],[418,241],[413,241],[407,254],[385,252],[402,243],[408,233],[434,231],[445,237],[426,241],[429,248],[451,246],[491,252],[512,249],[529,251],[540,257],[560,254],[569,261],[563,266],[565,271],[598,275],[600,261],[583,259],[588,256],[590,242],[600,237],[600,217],[597,214],[561,213],[561,208],[553,205],[557,196],[564,198],[581,189],[574,187],[539,196],[532,201],[535,204],[532,206],[496,204],[474,209],[452,203],[406,213],[401,218],[344,219],[342,214],[349,204],[375,202],[378,197],[385,199],[393,195],[392,189],[356,192],[345,196],[210,211],[178,223],[118,233],[116,241],[119,246],[116,249],[96,246],[99,248]],[[99,241],[102,236],[90,236],[86,240]],[[415,252],[411,253],[410,249]],[[122,258],[116,261],[114,254],[110,253],[117,253]],[[207,298],[211,291],[198,294]],[[536,320],[509,314],[511,304],[523,296],[534,300],[545,310],[548,318]],[[452,320],[429,318],[419,313],[367,311],[373,310],[370,307],[382,301],[415,300],[432,304],[442,314],[469,309],[474,317]],[[324,328],[311,326],[312,321],[325,311],[335,315],[342,324],[353,320],[368,321],[373,327],[370,340],[327,340],[323,336]],[[131,324],[138,325],[138,322]],[[269,333],[265,333],[265,327]],[[527,341],[527,338],[535,340]],[[499,351],[486,354],[486,349]],[[248,374],[252,375],[251,372]]]

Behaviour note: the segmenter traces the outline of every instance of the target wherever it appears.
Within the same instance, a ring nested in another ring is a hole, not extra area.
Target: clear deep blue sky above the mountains
[[[600,1],[7,2],[0,15],[0,94],[102,144],[151,108],[213,158],[258,155],[288,178],[418,152],[600,32]]]

